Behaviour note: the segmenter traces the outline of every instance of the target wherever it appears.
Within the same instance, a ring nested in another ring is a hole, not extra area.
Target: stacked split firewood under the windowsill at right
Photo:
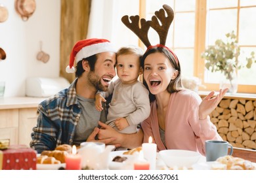
[[[210,117],[224,141],[256,150],[256,101],[223,99]]]

